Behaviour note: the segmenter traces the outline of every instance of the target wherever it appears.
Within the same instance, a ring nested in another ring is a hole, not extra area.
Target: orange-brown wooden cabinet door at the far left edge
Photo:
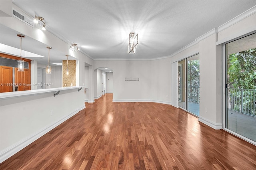
[[[12,91],[12,67],[0,66],[0,93]]]

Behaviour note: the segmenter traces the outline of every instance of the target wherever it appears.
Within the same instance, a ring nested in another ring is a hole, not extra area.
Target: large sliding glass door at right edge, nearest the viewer
[[[225,127],[256,141],[256,33],[226,44]]]

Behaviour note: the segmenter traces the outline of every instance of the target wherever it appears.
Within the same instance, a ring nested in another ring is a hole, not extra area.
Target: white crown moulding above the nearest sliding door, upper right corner
[[[250,8],[249,10],[243,12],[242,14],[236,16],[235,18],[233,18],[232,20],[226,22],[225,24],[222,24],[221,26],[219,26],[217,28],[217,32],[221,32],[225,29],[227,29],[228,27],[244,20],[245,18],[247,18],[248,16],[251,16],[252,14],[256,13],[256,6]]]

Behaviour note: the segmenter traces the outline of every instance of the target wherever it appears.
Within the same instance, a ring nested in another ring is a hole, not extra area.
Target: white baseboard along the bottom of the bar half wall
[[[64,121],[68,120],[70,117],[76,115],[80,110],[82,110],[84,108],[85,108],[85,105],[80,107],[73,113],[70,113],[68,116],[63,117],[59,121],[56,121],[52,125],[39,130],[36,134],[33,134],[33,135],[29,136],[28,138],[26,138],[25,140],[22,140],[16,144],[14,144],[10,148],[3,150],[2,152],[0,152],[0,163],[5,161],[6,159],[10,158],[12,155],[16,154],[17,152],[19,152],[20,150],[22,150],[23,148],[25,148],[26,146],[28,146],[29,144],[31,144],[32,142],[34,142],[35,140],[37,140],[38,138],[40,138],[41,136],[43,136],[44,134],[49,132],[50,130],[54,129],[55,127],[57,127],[58,125],[63,123]]]

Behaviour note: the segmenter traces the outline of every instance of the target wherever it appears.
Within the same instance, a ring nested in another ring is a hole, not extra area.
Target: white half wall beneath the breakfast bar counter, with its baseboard
[[[84,109],[83,90],[10,97],[0,102],[0,162]],[[51,115],[52,111],[52,115]]]

